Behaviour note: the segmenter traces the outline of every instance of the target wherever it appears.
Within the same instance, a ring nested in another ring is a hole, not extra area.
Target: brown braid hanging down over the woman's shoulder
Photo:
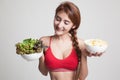
[[[76,34],[77,34],[77,32],[76,32],[76,30],[70,30],[70,34],[71,34],[71,40],[72,40],[72,45],[73,45],[73,47],[75,48],[75,50],[76,50],[76,52],[77,52],[77,56],[78,56],[78,61],[80,61],[80,59],[81,59],[81,50],[80,50],[80,48],[79,48],[79,46],[78,46],[78,41],[77,41],[77,36],[76,36]]]

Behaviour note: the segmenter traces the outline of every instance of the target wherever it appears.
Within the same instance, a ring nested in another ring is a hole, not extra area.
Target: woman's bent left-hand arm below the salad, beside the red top
[[[43,75],[47,76],[48,70],[44,63],[44,55],[39,59],[38,69]]]

